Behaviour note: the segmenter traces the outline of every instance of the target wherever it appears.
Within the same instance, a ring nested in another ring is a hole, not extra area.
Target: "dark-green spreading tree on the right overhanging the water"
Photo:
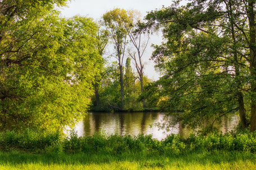
[[[148,27],[163,28],[166,43],[155,46],[153,58],[165,74],[157,83],[162,105],[184,111],[177,121],[214,123],[237,108],[242,128],[248,114],[256,130],[254,4],[192,1],[147,15]]]

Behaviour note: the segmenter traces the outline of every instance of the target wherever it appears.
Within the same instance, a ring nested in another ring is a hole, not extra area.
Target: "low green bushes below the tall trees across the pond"
[[[127,58],[124,69],[124,106],[121,103],[120,72],[117,63],[106,67],[100,81],[94,84],[94,96],[90,111],[149,111],[157,110],[158,99],[141,99],[141,83],[131,67],[131,59]],[[99,78],[99,77],[98,77]],[[143,77],[143,84],[152,82]]]

